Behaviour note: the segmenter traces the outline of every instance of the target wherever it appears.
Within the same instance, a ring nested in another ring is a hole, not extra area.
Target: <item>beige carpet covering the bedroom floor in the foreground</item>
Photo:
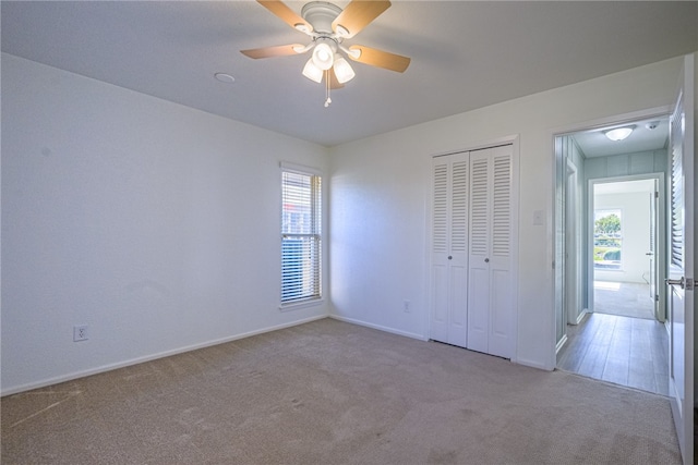
[[[681,463],[666,397],[332,319],[1,407],[3,464]]]

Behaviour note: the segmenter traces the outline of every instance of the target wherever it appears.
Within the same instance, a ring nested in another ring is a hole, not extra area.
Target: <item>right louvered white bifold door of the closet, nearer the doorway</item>
[[[513,353],[510,145],[470,152],[468,348]]]

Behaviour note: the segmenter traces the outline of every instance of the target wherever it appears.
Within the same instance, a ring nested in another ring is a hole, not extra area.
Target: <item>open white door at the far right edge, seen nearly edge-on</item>
[[[669,393],[684,463],[694,460],[694,57],[684,61],[671,118],[667,234]]]

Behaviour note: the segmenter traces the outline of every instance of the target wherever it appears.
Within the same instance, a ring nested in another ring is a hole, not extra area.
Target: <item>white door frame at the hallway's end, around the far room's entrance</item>
[[[597,184],[610,184],[622,183],[626,181],[645,181],[652,180],[657,182],[657,189],[659,193],[659,201],[657,206],[657,218],[654,219],[657,224],[657,244],[664,244],[666,241],[666,205],[665,205],[665,174],[664,173],[647,173],[647,174],[629,174],[627,176],[614,176],[614,178],[594,178],[589,180],[587,188],[587,281],[589,286],[587,289],[587,306],[590,313],[594,311],[593,299],[593,215],[594,215],[594,199],[593,199],[593,186]],[[666,319],[666,289],[663,285],[664,278],[666,278],[666,250],[663,246],[658,245],[655,247],[655,260],[657,260],[657,293],[659,295],[659,302],[654,303],[654,318],[660,322],[664,322]],[[659,283],[662,283],[660,285]]]

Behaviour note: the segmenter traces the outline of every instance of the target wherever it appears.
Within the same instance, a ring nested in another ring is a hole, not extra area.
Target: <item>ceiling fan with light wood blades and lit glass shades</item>
[[[303,68],[303,75],[318,84],[325,79],[325,107],[332,102],[329,90],[344,87],[345,83],[354,77],[354,71],[342,53],[359,63],[398,73],[402,73],[410,64],[407,57],[360,45],[344,45],[345,39],[356,36],[390,7],[387,0],[352,0],[344,10],[325,1],[311,1],[303,5],[300,16],[279,0],[257,2],[289,26],[306,34],[311,41],[308,45],[290,44],[241,50],[241,53],[258,59],[301,54],[312,50],[311,58]]]

